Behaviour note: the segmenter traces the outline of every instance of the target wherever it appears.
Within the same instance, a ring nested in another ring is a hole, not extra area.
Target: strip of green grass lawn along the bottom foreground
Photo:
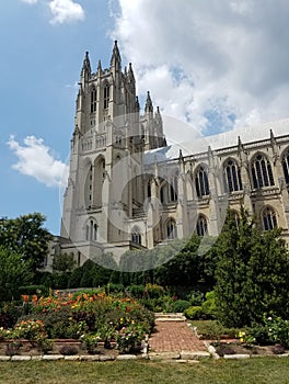
[[[176,362],[2,362],[1,384],[289,384],[287,358]]]

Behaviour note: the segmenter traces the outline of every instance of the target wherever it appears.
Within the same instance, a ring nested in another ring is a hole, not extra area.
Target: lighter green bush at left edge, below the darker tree
[[[20,285],[30,284],[33,274],[28,263],[11,249],[0,247],[0,301],[11,301]]]

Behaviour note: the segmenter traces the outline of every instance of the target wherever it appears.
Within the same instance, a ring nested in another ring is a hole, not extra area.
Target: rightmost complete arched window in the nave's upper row
[[[265,156],[257,155],[252,162],[251,169],[255,189],[274,185],[271,165]]]

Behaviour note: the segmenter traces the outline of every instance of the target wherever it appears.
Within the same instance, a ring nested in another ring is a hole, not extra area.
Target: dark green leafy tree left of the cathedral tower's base
[[[45,217],[39,213],[0,221],[0,246],[27,261],[32,271],[43,266],[51,235],[43,227]]]

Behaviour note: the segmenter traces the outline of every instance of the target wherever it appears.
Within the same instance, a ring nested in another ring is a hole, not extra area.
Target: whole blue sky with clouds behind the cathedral
[[[0,216],[33,212],[59,234],[85,50],[108,67],[118,41],[169,142],[288,117],[287,0],[0,0]],[[143,109],[143,105],[142,105]]]

